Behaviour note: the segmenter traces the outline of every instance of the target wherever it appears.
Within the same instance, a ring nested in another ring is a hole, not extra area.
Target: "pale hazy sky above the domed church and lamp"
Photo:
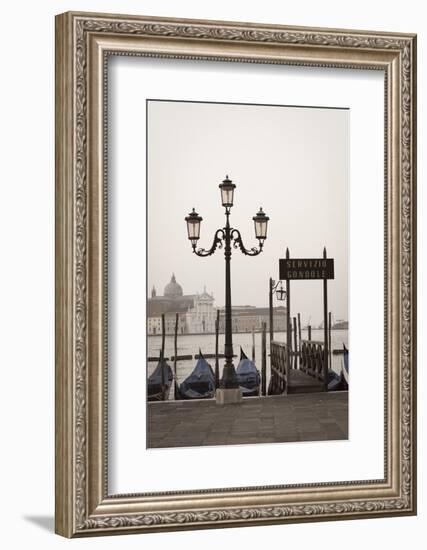
[[[268,305],[268,279],[279,258],[335,258],[329,310],[348,318],[349,111],[234,104],[148,102],[148,286],[158,294],[174,272],[185,294],[212,292],[224,305],[224,254],[192,253],[185,216],[203,217],[199,246],[225,223],[219,183],[236,184],[231,225],[247,248],[257,245],[252,217],[270,217],[264,251],[233,249],[233,305]],[[322,282],[291,282],[291,314],[316,325]],[[276,302],[277,304],[277,302]],[[280,303],[279,303],[280,304]]]

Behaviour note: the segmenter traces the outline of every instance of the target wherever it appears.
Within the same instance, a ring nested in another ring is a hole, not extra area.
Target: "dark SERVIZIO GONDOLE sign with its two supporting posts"
[[[291,292],[290,281],[323,280],[323,389],[328,390],[328,279],[334,279],[334,260],[328,258],[326,247],[323,248],[322,258],[290,258],[289,248],[286,249],[286,258],[279,259],[279,278],[286,281],[287,296],[287,334],[286,345],[288,350],[291,346]],[[296,350],[295,350],[296,351]]]

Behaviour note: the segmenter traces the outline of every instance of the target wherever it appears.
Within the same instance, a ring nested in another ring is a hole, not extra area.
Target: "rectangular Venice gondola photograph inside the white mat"
[[[147,448],[348,439],[349,109],[146,120]]]

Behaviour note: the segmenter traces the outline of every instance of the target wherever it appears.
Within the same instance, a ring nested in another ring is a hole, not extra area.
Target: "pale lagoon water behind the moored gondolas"
[[[258,370],[261,370],[261,333],[255,333],[255,363]],[[308,333],[306,330],[301,331],[302,339],[307,339]],[[278,341],[286,341],[285,332],[276,332],[274,339]],[[323,330],[313,329],[311,331],[311,339],[323,342]],[[161,336],[148,337],[148,355],[150,357],[159,356],[162,338]],[[332,330],[331,331],[332,349],[343,349],[343,344],[348,348],[348,330]],[[237,356],[234,360],[234,366],[237,367],[240,358],[240,346],[249,358],[252,358],[252,334],[238,333],[233,334],[233,349]],[[195,355],[199,353],[199,348],[202,353],[215,353],[215,335],[214,334],[184,334],[178,336],[178,355]],[[224,335],[219,335],[219,352],[224,350]],[[165,356],[172,357],[174,355],[174,336],[167,335],[165,339]],[[341,371],[343,361],[342,355],[332,355],[332,368],[335,372]],[[197,360],[178,361],[177,363],[177,378],[180,384],[194,369]],[[215,366],[215,359],[208,359],[212,368]],[[173,363],[169,361],[171,367]],[[219,372],[222,375],[222,367],[224,359],[219,359]],[[148,376],[156,368],[157,362],[148,363]],[[270,379],[270,358],[269,358],[269,335],[267,333],[267,386]],[[173,391],[169,394],[169,399],[173,399]]]

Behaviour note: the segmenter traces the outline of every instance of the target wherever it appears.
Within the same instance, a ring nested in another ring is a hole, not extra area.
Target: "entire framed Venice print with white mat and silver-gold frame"
[[[415,514],[416,37],[70,12],[56,69],[57,533]]]

